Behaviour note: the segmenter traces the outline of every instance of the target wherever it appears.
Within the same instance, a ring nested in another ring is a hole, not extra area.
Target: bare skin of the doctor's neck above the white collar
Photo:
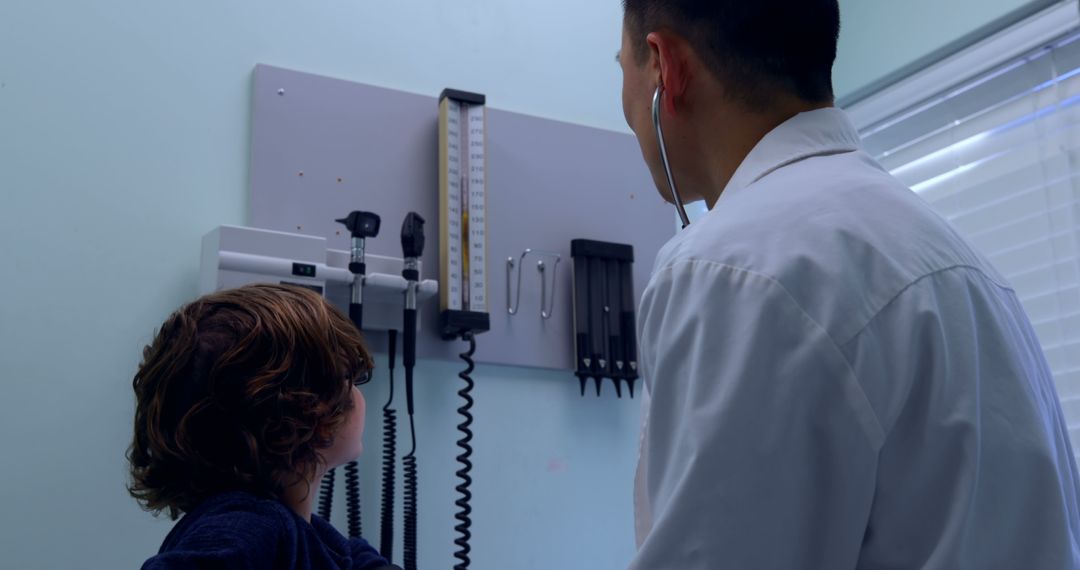
[[[686,161],[676,182],[679,190],[688,198],[703,199],[710,209],[766,135],[799,113],[833,107],[832,100],[809,103],[787,94],[777,94],[767,104],[751,104],[726,94],[718,83],[708,83],[683,100],[674,119],[681,124],[670,135],[665,127],[665,135],[680,139],[675,145],[681,152],[674,153]]]

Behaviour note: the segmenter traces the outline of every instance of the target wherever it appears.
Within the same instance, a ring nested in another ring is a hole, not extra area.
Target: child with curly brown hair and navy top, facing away
[[[135,374],[132,496],[183,518],[143,566],[392,569],[312,515],[318,483],[360,456],[372,370],[337,309],[252,285],[173,313]]]

